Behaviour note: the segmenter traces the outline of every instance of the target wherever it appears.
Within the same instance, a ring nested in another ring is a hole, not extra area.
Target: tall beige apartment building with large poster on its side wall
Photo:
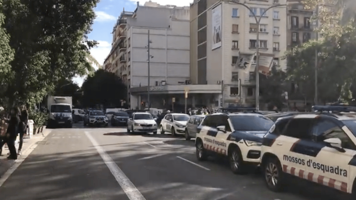
[[[220,105],[255,106],[256,47],[260,47],[261,74],[272,65],[286,69],[280,58],[287,50],[286,0],[194,0],[190,6],[190,77],[193,84],[223,88]],[[267,10],[268,9],[268,10]],[[266,11],[267,10],[267,11]],[[261,17],[257,26],[255,17]],[[257,44],[257,30],[259,44]]]

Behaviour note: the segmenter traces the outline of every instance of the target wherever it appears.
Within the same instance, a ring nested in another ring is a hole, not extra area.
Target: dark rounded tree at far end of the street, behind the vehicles
[[[114,73],[103,69],[87,77],[82,85],[83,105],[94,107],[96,104],[121,107],[121,100],[126,100],[127,89]]]

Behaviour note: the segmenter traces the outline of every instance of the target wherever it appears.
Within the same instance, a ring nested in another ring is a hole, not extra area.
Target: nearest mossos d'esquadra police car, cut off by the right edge
[[[266,185],[281,191],[289,174],[355,195],[356,107],[313,109],[277,119],[263,138]]]

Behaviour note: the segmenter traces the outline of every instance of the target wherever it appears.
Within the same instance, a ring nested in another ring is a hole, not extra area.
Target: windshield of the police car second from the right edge
[[[268,131],[273,121],[259,115],[236,115],[230,116],[230,120],[236,131]]]

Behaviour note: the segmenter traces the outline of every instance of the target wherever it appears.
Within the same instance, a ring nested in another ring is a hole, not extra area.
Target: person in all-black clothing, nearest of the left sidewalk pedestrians
[[[9,127],[7,128],[6,131],[6,143],[7,143],[7,147],[9,147],[10,150],[10,156],[7,157],[7,159],[14,159],[14,160],[17,159],[15,141],[16,141],[17,133],[19,132],[19,124],[20,124],[19,109],[17,107],[13,107],[10,110]]]

